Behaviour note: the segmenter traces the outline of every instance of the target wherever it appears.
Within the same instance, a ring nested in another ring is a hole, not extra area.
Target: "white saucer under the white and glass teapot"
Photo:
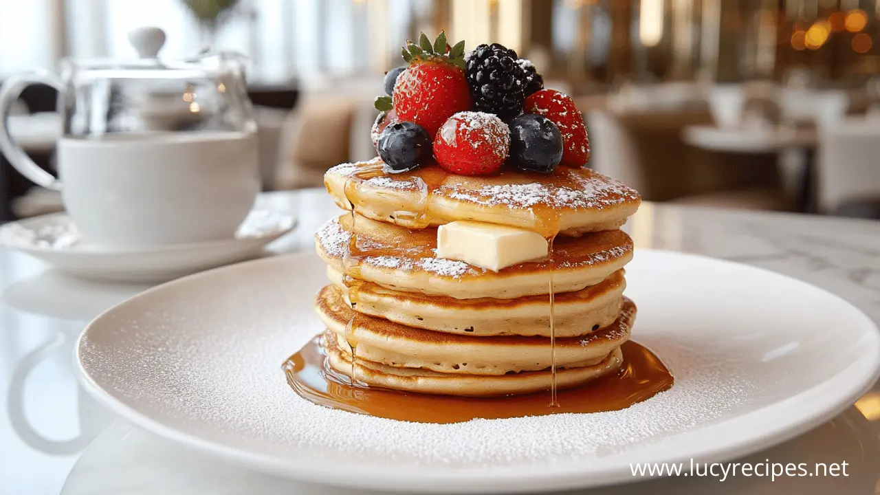
[[[66,213],[52,213],[3,225],[0,246],[77,277],[160,282],[253,258],[296,223],[288,213],[254,210],[229,240],[112,249],[89,244]]]

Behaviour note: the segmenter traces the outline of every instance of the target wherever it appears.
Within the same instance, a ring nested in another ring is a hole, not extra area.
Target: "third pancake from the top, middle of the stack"
[[[617,320],[627,283],[624,270],[576,292],[555,296],[556,336],[583,336]],[[345,295],[341,272],[327,268],[327,277]],[[546,294],[517,299],[454,299],[418,292],[399,292],[364,282],[356,287],[358,313],[416,327],[466,336],[550,336],[550,300]]]

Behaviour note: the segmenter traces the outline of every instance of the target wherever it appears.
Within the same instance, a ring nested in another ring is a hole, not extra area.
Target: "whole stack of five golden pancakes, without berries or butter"
[[[316,309],[335,373],[370,386],[487,396],[550,389],[553,355],[558,388],[620,367],[635,316],[623,296],[633,243],[620,225],[638,193],[582,168],[465,177],[377,166],[344,164],[325,176],[349,211],[316,234],[331,282]],[[555,235],[551,256],[497,272],[437,257],[436,225],[464,219]]]

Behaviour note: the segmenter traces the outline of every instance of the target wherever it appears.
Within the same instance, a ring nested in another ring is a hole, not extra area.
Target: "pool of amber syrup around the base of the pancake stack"
[[[325,407],[417,423],[459,423],[474,418],[543,416],[568,412],[621,410],[671,388],[666,366],[642,345],[620,347],[620,370],[578,388],[559,391],[558,407],[548,408],[546,392],[500,397],[462,397],[400,392],[388,388],[352,387],[348,377],[326,363],[315,337],[284,362],[282,368],[297,395]]]

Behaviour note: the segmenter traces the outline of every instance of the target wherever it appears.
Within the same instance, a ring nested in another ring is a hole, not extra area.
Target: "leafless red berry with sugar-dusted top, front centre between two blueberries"
[[[482,112],[452,115],[434,138],[437,164],[453,174],[498,172],[510,148],[510,130],[497,116]]]

